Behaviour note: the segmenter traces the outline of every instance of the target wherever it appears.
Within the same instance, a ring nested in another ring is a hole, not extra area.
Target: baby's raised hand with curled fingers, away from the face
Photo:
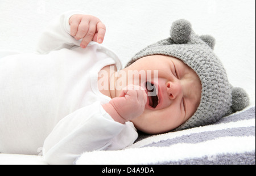
[[[106,27],[100,19],[92,15],[75,14],[69,18],[71,36],[81,41],[81,48],[86,48],[90,41],[101,44],[104,40]]]

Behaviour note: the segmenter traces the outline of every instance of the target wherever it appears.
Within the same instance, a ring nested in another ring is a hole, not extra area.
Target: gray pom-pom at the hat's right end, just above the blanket
[[[234,87],[232,89],[232,109],[234,111],[240,111],[249,106],[249,96],[244,89],[240,87]]]

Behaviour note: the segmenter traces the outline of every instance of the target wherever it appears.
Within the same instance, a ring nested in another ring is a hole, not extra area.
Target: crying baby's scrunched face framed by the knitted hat
[[[138,130],[149,134],[167,132],[183,124],[195,113],[200,104],[201,81],[196,72],[180,59],[151,55],[127,68],[151,70],[151,88],[158,90],[157,96],[148,96],[143,114],[131,121]],[[158,71],[158,79],[153,78],[154,70]],[[148,80],[150,75],[146,77]],[[149,95],[150,91],[146,91]]]

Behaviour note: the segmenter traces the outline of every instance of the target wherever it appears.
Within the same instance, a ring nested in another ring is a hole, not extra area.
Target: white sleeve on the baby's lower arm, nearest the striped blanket
[[[137,137],[135,128],[115,122],[97,101],[61,119],[44,141],[43,153],[49,164],[73,164],[83,152],[122,149]]]

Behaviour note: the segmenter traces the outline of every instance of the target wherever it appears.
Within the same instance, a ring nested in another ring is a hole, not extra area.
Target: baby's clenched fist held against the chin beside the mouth
[[[125,123],[139,117],[144,111],[147,93],[138,85],[128,85],[119,97],[115,97],[108,104],[103,105],[114,121]]]

